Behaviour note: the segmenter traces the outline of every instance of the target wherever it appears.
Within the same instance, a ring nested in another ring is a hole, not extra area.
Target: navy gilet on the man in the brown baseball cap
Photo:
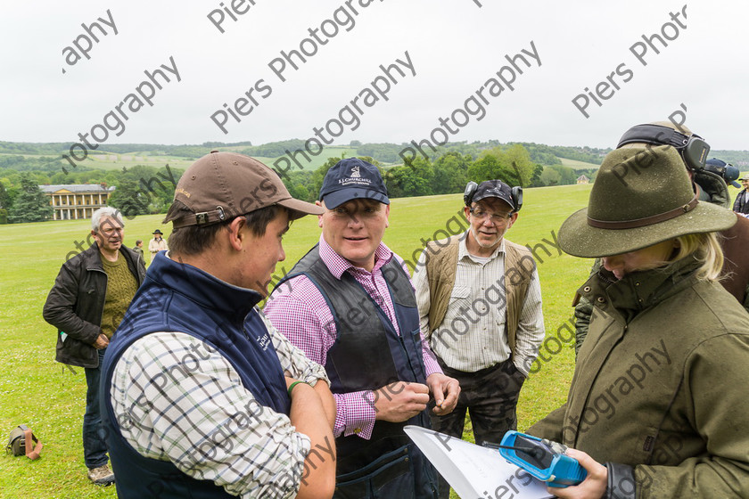
[[[119,357],[136,339],[156,331],[185,332],[217,349],[260,405],[288,415],[291,399],[284,372],[265,323],[254,309],[260,299],[256,291],[232,286],[164,253],[154,258],[112,337],[102,368],[102,422],[120,499],[234,497],[210,480],[193,479],[172,462],[138,454],[119,431],[119,424],[136,421],[128,421],[126,414],[118,421],[113,413],[111,379]]]

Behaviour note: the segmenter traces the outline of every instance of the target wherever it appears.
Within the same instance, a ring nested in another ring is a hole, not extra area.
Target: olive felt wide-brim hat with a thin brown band
[[[736,222],[732,211],[697,200],[679,152],[647,145],[606,155],[588,208],[564,221],[559,245],[575,257],[608,257]]]

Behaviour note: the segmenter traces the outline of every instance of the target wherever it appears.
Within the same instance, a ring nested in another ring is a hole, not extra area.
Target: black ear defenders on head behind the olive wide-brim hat
[[[678,130],[663,125],[638,125],[631,127],[621,135],[616,148],[626,143],[651,143],[653,145],[671,145],[679,151],[687,167],[693,170],[704,168],[704,160],[710,152],[710,145],[699,135],[684,135]]]

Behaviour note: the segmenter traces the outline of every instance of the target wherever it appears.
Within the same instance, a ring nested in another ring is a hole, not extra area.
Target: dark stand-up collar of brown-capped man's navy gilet
[[[221,281],[196,266],[176,262],[167,254],[156,254],[146,271],[146,282],[156,282],[185,296],[199,307],[240,321],[262,300],[255,290]]]

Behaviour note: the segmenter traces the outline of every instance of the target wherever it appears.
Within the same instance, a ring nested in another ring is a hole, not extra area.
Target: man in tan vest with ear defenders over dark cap
[[[471,227],[427,244],[414,285],[422,334],[461,386],[452,413],[431,414],[432,429],[461,438],[467,410],[481,444],[517,427],[517,398],[544,338],[544,317],[531,252],[504,238],[523,206],[523,188],[470,182],[464,200]],[[444,481],[440,497],[449,497]]]

